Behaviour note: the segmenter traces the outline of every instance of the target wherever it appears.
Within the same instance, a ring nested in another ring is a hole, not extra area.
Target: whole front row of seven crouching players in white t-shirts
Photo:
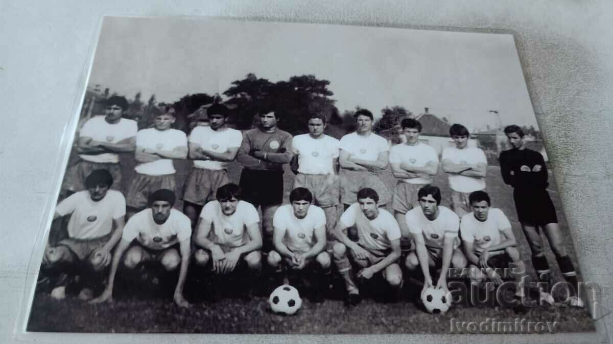
[[[259,215],[253,205],[241,200],[238,185],[227,184],[217,190],[217,200],[204,206],[192,236],[190,220],[173,209],[175,193],[167,189],[152,193],[148,208],[124,225],[125,200],[120,192],[109,190],[112,183],[108,171],[93,171],[86,179],[88,190],[58,204],[56,218],[71,214],[69,237],[48,245],[43,258],[44,271],[86,263],[100,274],[110,265],[104,291],[91,302],[112,299],[121,263],[133,273],[145,261],[159,261],[167,271],[178,269],[173,297],[182,307],[189,306],[183,296],[189,259],[183,258],[192,253],[196,266],[207,267],[216,275],[233,272],[238,264],[246,267],[250,279],[256,279],[261,272]],[[346,302],[351,305],[361,299],[356,281],[370,280],[379,272],[400,291],[401,266],[408,271],[421,268],[424,290],[428,286],[446,290],[449,267],[470,265],[473,283],[488,277],[500,282],[492,268],[512,267],[518,286],[516,296],[524,293],[519,286],[525,266],[516,249],[511,224],[500,209],[490,208],[490,198],[483,191],[471,193],[473,212],[460,222],[454,212],[440,206],[440,189],[425,185],[417,193],[419,206],[405,215],[409,233],[401,233],[394,216],[378,207],[379,196],[373,189],[359,190],[357,203],[351,204],[329,231],[326,214],[311,204],[313,195],[308,189],[296,188],[289,198],[291,204],[281,206],[273,216],[273,250],[264,249],[266,260],[279,281],[286,280],[287,272],[321,272],[313,279],[318,289],[314,293],[318,296],[316,301],[321,301],[328,288],[332,261],[345,281]],[[351,238],[350,228],[357,230]],[[464,252],[459,247],[460,231]],[[430,275],[431,267],[440,268],[436,284]],[[80,296],[89,299],[92,293],[85,288]]]

